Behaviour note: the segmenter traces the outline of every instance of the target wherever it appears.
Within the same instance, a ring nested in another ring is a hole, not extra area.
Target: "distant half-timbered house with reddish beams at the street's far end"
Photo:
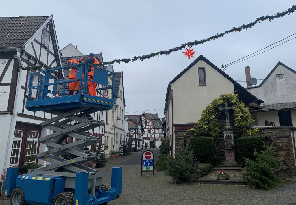
[[[151,148],[153,144],[155,148],[159,148],[161,138],[164,137],[163,122],[156,114],[144,112],[141,116],[144,129],[143,140]]]

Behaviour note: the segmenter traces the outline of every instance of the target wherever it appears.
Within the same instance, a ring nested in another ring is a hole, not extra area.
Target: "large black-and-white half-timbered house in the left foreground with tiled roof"
[[[50,119],[51,114],[25,109],[29,75],[34,71],[17,70],[18,66],[61,66],[52,15],[0,17],[1,173],[11,165],[24,164],[28,156],[44,151],[45,146],[39,147],[38,138],[50,134],[50,130],[39,124]],[[52,73],[53,78],[62,75],[63,72]],[[38,85],[38,78],[32,79],[33,85]],[[31,98],[37,94],[33,91]]]

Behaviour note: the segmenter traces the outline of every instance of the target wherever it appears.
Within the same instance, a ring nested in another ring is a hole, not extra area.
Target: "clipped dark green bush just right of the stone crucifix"
[[[264,141],[262,136],[244,136],[237,139],[240,156],[255,160],[254,150],[263,150]]]

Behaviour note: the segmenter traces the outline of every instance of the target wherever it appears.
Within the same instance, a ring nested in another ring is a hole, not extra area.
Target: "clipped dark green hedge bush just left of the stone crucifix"
[[[216,156],[215,141],[211,137],[190,138],[193,156],[201,163],[214,164]]]

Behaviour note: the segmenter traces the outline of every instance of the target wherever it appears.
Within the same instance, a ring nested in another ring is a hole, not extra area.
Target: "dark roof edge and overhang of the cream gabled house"
[[[217,66],[215,66],[212,62],[210,62],[208,59],[206,59],[202,55],[200,55],[199,57],[197,57],[197,59],[195,59],[189,66],[187,66],[173,80],[170,81],[170,83],[168,84],[167,94],[166,94],[166,97],[165,97],[165,101],[168,100],[168,93],[169,93],[169,90],[170,90],[170,84],[171,83],[174,83],[176,80],[178,80],[178,78],[180,78],[187,70],[189,70],[192,66],[194,66],[194,64],[196,64],[200,60],[206,62],[213,69],[215,69],[217,72],[219,72],[221,75],[223,75],[229,81],[231,81],[231,83],[233,83],[235,94],[238,94],[239,95],[239,100],[242,101],[242,102],[244,102],[245,105],[248,105],[248,104],[250,104],[250,103],[252,103],[254,101],[257,104],[261,104],[261,103],[264,102],[264,101],[258,99],[256,96],[253,96],[250,92],[248,92],[246,89],[244,89],[244,87],[242,87],[239,83],[237,83],[237,81],[233,80],[231,77],[229,77],[229,75],[227,75],[225,72],[223,72],[222,70],[220,70]],[[167,104],[165,104],[165,110],[166,109],[167,109]]]

